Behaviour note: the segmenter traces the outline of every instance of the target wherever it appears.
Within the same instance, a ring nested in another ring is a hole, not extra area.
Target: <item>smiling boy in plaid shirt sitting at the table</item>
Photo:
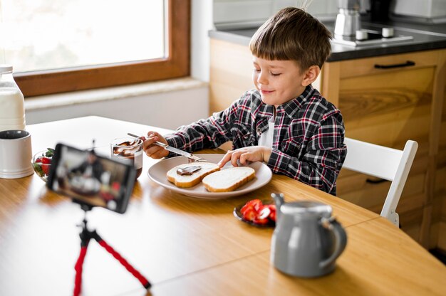
[[[251,38],[254,90],[222,112],[162,137],[147,132],[145,153],[170,156],[153,145],[165,142],[193,152],[232,141],[219,166],[265,162],[285,174],[336,195],[346,157],[341,112],[311,83],[330,55],[330,32],[316,18],[289,7],[269,18]]]

